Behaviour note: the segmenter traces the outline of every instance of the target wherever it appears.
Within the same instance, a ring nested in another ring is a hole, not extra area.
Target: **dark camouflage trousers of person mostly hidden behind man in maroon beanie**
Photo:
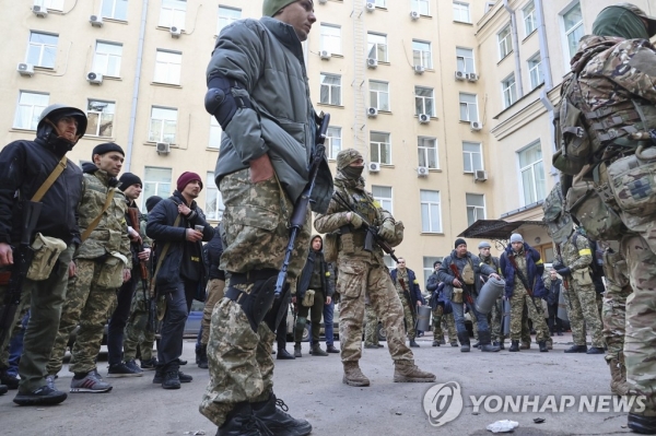
[[[132,297],[130,318],[124,335],[124,360],[126,362],[137,358],[137,349],[139,349],[141,362],[153,358],[155,332],[147,329],[148,310],[148,301],[143,291],[138,287]]]

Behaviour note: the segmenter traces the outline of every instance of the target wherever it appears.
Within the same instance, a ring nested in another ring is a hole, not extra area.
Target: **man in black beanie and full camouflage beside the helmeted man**
[[[130,279],[132,268],[125,219],[126,198],[116,188],[116,176],[122,167],[124,156],[119,145],[104,143],[93,149],[94,163],[82,165],[84,185],[78,220],[84,240],[74,255],[75,275],[69,282],[57,340],[47,365],[50,377],[59,373],[67,342],[79,323],[80,330],[71,352],[74,363],[69,366],[75,374],[71,380],[71,392],[112,390],[112,386],[98,375],[95,360],[101,351],[109,309],[116,304],[116,292]]]

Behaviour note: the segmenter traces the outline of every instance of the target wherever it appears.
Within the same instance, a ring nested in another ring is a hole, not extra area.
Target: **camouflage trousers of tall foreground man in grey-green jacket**
[[[254,184],[250,169],[246,168],[225,176],[220,189],[225,204],[220,268],[230,273],[279,270],[289,241],[293,204],[278,179]],[[307,259],[309,219],[308,209],[288,270],[290,282],[295,281]],[[249,293],[253,284],[235,287]],[[223,298],[214,306],[208,340],[210,381],[199,406],[201,414],[221,426],[235,404],[269,398],[273,388],[274,339],[265,322],[254,332],[242,307],[233,301]]]

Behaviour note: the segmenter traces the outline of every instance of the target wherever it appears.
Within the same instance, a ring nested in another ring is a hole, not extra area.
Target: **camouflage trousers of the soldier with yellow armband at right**
[[[561,291],[567,305],[567,316],[572,327],[574,345],[586,344],[586,332],[590,332],[593,346],[604,347],[601,320],[597,308],[594,284],[579,284],[570,279],[567,288]]]

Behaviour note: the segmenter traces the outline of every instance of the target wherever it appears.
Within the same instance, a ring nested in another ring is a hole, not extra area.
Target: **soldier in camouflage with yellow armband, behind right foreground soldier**
[[[590,243],[578,231],[560,244],[553,268],[563,278],[565,284],[563,294],[569,308],[574,341],[574,345],[565,350],[565,353],[604,354],[601,320],[590,275],[591,261]],[[589,350],[585,340],[586,330],[590,332],[593,339],[593,346]]]

